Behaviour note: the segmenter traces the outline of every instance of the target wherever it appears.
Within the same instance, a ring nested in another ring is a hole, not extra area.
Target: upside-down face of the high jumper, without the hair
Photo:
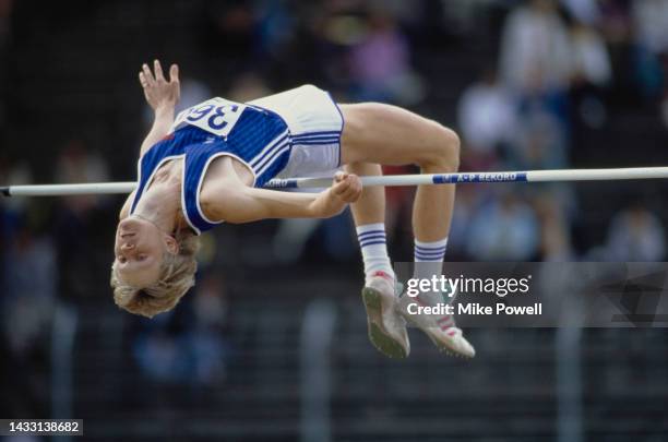
[[[118,224],[114,264],[120,279],[136,288],[155,283],[168,250],[165,234],[144,219],[128,217]]]

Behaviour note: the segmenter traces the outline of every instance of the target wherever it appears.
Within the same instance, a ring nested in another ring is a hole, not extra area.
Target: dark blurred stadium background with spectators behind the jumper
[[[181,108],[302,83],[407,107],[458,131],[462,170],[668,164],[665,0],[0,0],[0,184],[133,180],[154,58]],[[461,186],[446,260],[664,261],[667,190]],[[396,261],[413,193],[387,190]],[[121,312],[121,202],[0,200],[0,417],[86,440],[668,440],[661,328],[469,330],[468,362],[414,331],[383,358],[347,213],[218,228],[178,309]]]

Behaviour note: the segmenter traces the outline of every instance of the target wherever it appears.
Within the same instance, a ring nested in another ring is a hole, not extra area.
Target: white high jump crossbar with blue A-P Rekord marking
[[[464,184],[469,182],[552,182],[618,181],[666,179],[668,167],[629,167],[618,169],[561,169],[526,171],[486,171],[432,175],[385,175],[361,177],[362,186]],[[318,189],[332,184],[332,177],[287,178],[269,181],[265,189]],[[5,196],[59,196],[103,193],[130,193],[136,182],[92,182],[79,184],[33,184],[0,188]]]

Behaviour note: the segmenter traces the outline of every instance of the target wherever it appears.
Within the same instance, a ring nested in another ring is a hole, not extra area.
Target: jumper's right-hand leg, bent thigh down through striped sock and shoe
[[[346,126],[342,136],[342,162],[416,164],[424,174],[454,172],[460,165],[460,140],[450,129],[394,106],[360,104],[342,106]],[[417,277],[431,277],[441,272],[448,232],[454,206],[454,184],[421,186],[413,210],[416,240]],[[425,273],[420,275],[420,273]],[[441,294],[425,294],[424,303],[442,302]],[[420,297],[416,299],[420,301]],[[407,298],[402,299],[402,304]],[[473,356],[473,347],[464,339],[450,316],[408,318],[434,344],[444,350]]]

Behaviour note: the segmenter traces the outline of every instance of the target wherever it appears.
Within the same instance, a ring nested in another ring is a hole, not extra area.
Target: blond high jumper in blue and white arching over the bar
[[[111,271],[118,306],[148,318],[172,309],[194,285],[198,236],[217,224],[324,218],[350,204],[365,263],[362,300],[372,344],[386,356],[406,357],[407,319],[439,349],[475,355],[451,316],[416,320],[403,308],[407,297],[399,297],[385,246],[384,189],[362,191],[358,178],[381,175],[380,165],[456,171],[460,142],[453,131],[394,106],[337,105],[312,85],[246,104],[212,98],[175,119],[178,67],[172,64],[166,79],[155,60],[153,70],[142,67],[139,80],[155,121],[141,146],[138,187],[120,211]],[[321,193],[262,188],[274,177],[342,166],[345,171]],[[417,190],[416,268],[429,276],[441,273],[454,192],[453,184]],[[417,301],[434,303],[428,298]]]

